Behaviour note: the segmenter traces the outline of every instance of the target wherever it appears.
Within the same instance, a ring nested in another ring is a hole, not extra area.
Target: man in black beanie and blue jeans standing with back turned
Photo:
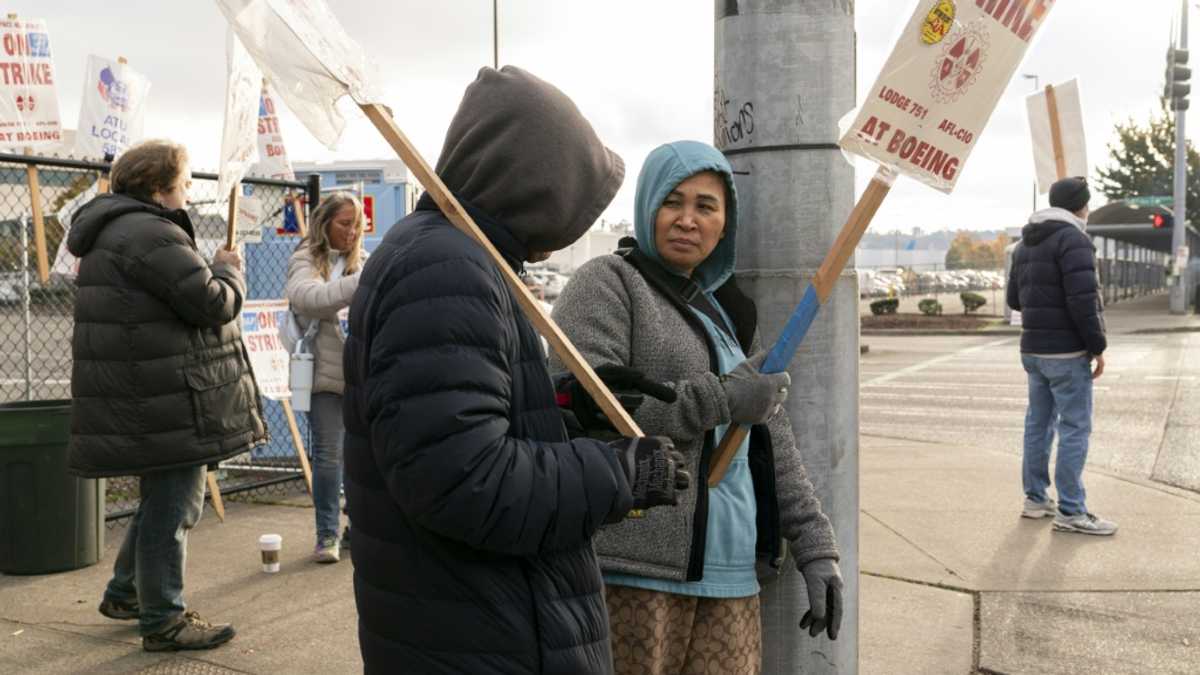
[[[1115,522],[1087,512],[1082,479],[1092,432],[1092,381],[1104,372],[1108,346],[1096,246],[1084,232],[1090,198],[1084,178],[1055,183],[1050,208],[1033,214],[1013,253],[1008,305],[1021,312],[1021,363],[1030,381],[1021,515],[1054,516],[1056,531],[1112,534]],[[1046,496],[1056,428],[1057,507]]]

